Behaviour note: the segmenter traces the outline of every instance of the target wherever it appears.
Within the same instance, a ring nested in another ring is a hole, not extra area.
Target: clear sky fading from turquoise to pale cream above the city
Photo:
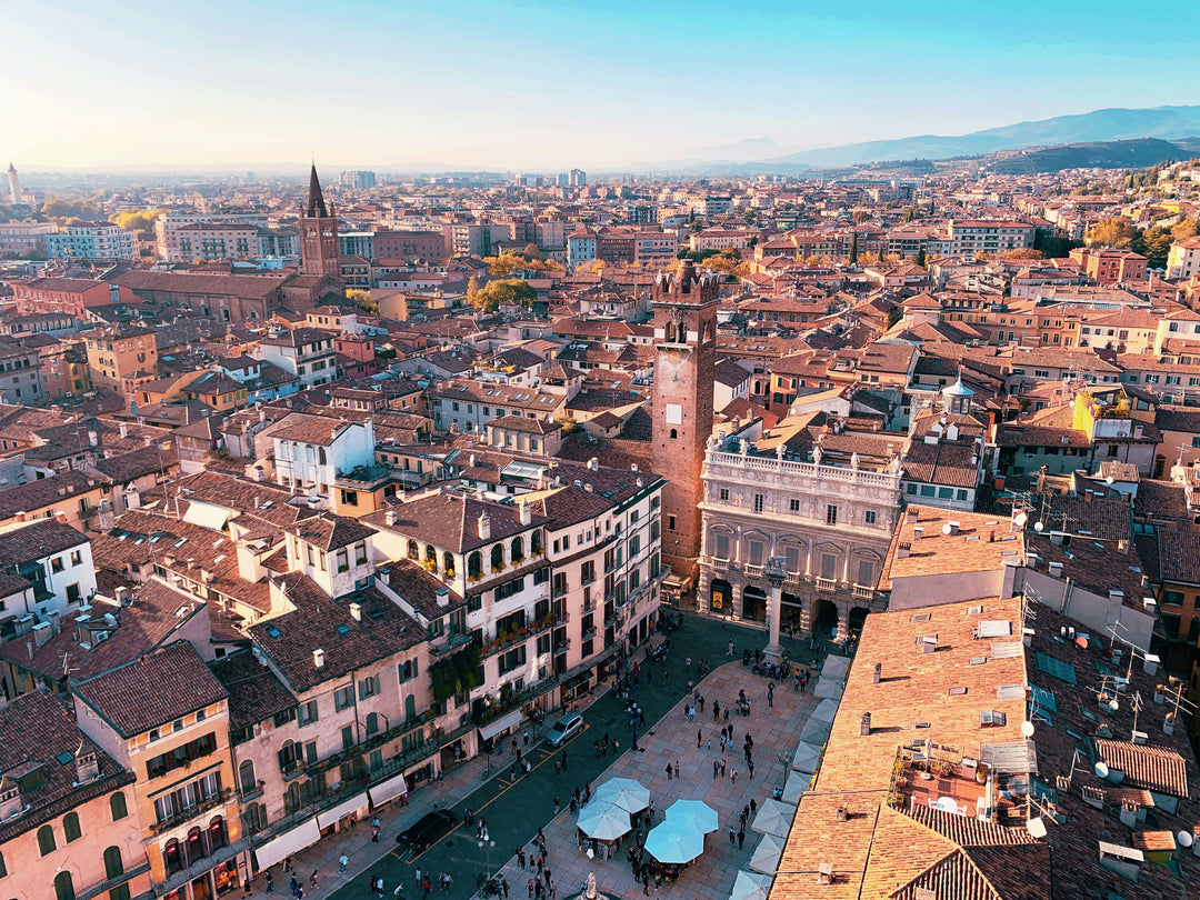
[[[557,172],[1200,103],[1194,2],[5,7],[0,160],[26,170]]]

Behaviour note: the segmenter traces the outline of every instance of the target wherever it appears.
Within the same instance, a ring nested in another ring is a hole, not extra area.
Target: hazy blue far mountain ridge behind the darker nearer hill
[[[895,140],[805,150],[763,160],[772,169],[787,166],[838,168],[878,160],[946,160],[978,156],[997,150],[1049,144],[1160,138],[1170,140],[1200,134],[1200,106],[1154,109],[1098,109],[1081,115],[1060,115],[1036,122],[1019,122],[958,137],[922,134]]]

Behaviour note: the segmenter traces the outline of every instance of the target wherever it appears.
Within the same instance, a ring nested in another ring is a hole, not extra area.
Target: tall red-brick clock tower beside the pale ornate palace
[[[700,479],[713,433],[718,276],[691,260],[654,284],[654,437],[652,468],[662,488],[662,562],[695,576],[701,545]]]

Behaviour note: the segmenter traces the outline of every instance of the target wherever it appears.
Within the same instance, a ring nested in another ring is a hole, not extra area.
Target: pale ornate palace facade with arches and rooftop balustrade
[[[736,443],[736,442],[733,442]],[[814,462],[709,445],[702,479],[701,612],[764,622],[768,557],[786,560],[784,629],[836,626],[844,637],[883,608],[876,584],[899,516],[900,466],[822,456]]]

